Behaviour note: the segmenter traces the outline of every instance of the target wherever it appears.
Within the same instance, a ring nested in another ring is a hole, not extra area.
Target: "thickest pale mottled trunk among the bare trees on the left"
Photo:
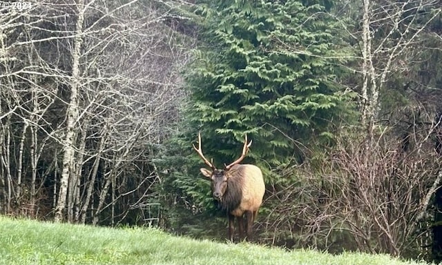
[[[63,210],[66,208],[66,197],[68,195],[68,184],[70,172],[73,169],[73,159],[75,157],[75,122],[78,117],[78,89],[80,86],[79,61],[81,57],[81,32],[83,29],[84,14],[86,8],[84,0],[77,3],[77,24],[75,26],[74,48],[72,51],[72,80],[70,82],[70,103],[67,115],[66,139],[64,141],[63,170],[61,172],[59,196],[57,208],[55,209],[55,222],[62,222],[64,219]]]

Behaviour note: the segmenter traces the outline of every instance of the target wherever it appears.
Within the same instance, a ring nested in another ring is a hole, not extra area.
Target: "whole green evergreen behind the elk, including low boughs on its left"
[[[339,85],[352,51],[328,13],[331,1],[198,1],[195,7],[200,45],[184,71],[188,106],[180,133],[158,161],[171,168],[162,184],[170,224],[186,223],[191,233],[202,224],[187,215],[216,212],[198,170],[205,165],[191,148],[198,131],[204,155],[218,168],[240,155],[247,134],[253,144],[243,163],[262,169],[268,190],[291,186],[297,176],[282,177],[280,168],[329,144],[336,124],[352,115],[354,97]],[[224,233],[213,223],[218,219],[204,228]]]

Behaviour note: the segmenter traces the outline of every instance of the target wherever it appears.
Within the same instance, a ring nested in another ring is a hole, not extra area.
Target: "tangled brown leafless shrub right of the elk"
[[[267,241],[392,255],[430,243],[430,201],[442,178],[434,126],[410,135],[407,150],[403,139],[378,128],[374,142],[341,135],[320,166],[310,161],[287,170],[296,181],[267,199],[275,204],[261,224]]]

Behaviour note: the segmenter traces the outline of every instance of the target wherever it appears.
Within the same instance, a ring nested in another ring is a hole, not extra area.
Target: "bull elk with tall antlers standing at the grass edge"
[[[234,222],[238,223],[240,239],[244,238],[244,223],[246,239],[250,239],[251,227],[256,219],[258,210],[265,193],[264,179],[258,166],[240,164],[249,152],[251,141],[247,144],[247,135],[244,140],[241,156],[224,169],[217,169],[213,159],[207,160],[202,154],[201,133],[198,135],[198,148],[193,148],[202,158],[204,163],[211,168],[200,168],[202,175],[211,179],[211,190],[220,208],[227,211],[229,216],[229,239],[233,242]]]

